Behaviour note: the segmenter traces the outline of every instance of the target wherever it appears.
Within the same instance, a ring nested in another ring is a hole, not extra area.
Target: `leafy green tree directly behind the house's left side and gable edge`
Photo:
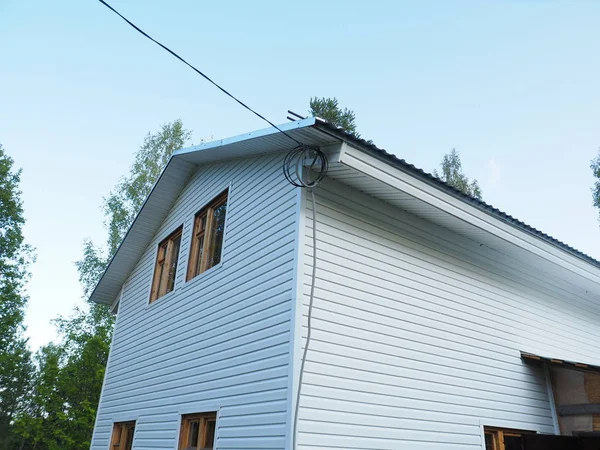
[[[135,215],[173,152],[184,147],[191,132],[180,120],[146,135],[129,173],[103,201],[107,241],[86,240],[76,263],[84,297],[91,294]],[[87,302],[70,317],[55,321],[61,341],[37,355],[28,414],[18,423],[27,445],[38,450],[89,449],[104,371],[108,361],[114,316],[105,305]]]

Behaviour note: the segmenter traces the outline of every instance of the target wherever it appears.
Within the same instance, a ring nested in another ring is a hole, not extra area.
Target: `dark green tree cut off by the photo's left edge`
[[[33,369],[23,325],[32,249],[23,237],[21,171],[0,145],[0,449],[14,439],[14,420],[24,408]]]

